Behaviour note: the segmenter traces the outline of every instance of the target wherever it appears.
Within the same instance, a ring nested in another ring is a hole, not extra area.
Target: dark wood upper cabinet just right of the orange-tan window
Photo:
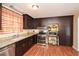
[[[24,29],[33,29],[34,23],[33,18],[27,14],[23,14],[23,28]]]

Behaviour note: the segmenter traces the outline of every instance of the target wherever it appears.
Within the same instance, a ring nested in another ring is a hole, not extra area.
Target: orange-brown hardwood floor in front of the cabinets
[[[41,46],[35,44],[24,56],[79,56],[79,53],[68,46]]]

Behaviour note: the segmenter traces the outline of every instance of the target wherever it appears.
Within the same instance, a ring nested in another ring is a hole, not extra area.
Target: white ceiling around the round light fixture
[[[79,3],[37,3],[39,9],[33,10],[33,3],[4,3],[6,6],[12,5],[23,14],[29,14],[34,18],[74,15],[79,12]]]

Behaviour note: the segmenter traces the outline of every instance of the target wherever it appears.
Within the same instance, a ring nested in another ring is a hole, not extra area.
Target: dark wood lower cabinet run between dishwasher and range
[[[27,52],[34,44],[37,43],[37,35],[25,38],[15,44],[15,55],[22,56]]]

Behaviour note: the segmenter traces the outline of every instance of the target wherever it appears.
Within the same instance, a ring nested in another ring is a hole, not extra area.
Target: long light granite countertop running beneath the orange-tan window
[[[10,44],[13,44],[15,42],[18,42],[20,40],[23,40],[24,38],[28,38],[30,36],[38,34],[38,33],[39,33],[39,31],[36,31],[36,32],[24,31],[24,32],[20,32],[20,33],[0,35],[0,49],[4,48]]]

